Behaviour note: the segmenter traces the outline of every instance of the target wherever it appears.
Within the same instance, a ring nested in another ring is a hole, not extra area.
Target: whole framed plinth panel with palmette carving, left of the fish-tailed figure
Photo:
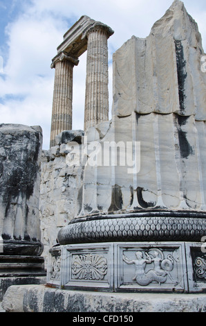
[[[62,284],[64,289],[113,289],[113,244],[64,246]]]

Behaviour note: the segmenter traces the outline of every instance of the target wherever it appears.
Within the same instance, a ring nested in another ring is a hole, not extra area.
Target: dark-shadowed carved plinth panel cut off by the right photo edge
[[[205,244],[186,243],[189,292],[206,292]]]

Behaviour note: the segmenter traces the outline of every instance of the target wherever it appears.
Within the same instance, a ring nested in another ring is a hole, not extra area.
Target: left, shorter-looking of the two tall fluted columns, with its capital
[[[63,130],[72,129],[73,67],[79,60],[61,52],[53,59],[55,86],[53,114],[50,131],[50,147],[55,146],[55,137]]]

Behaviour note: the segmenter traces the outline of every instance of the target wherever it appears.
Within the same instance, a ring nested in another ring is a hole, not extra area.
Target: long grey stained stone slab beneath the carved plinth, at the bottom
[[[10,286],[2,302],[8,312],[206,312],[205,294],[97,293],[50,289],[44,285]],[[68,316],[69,318],[69,316]]]

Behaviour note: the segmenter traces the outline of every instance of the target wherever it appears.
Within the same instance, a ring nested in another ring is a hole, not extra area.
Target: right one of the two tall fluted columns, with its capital
[[[113,33],[109,26],[100,22],[86,31],[88,43],[84,130],[109,120],[107,40]]]

